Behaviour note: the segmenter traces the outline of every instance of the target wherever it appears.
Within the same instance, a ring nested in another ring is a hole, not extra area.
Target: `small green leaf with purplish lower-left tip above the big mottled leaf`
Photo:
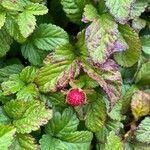
[[[87,4],[84,8],[82,21],[87,23],[89,21],[94,21],[94,19],[97,17],[98,17],[98,12],[96,8],[91,4]]]

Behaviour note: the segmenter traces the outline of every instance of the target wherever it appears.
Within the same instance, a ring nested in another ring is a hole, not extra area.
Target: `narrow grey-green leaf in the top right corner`
[[[130,18],[134,19],[136,17],[139,17],[148,6],[148,0],[136,0],[135,4],[133,5],[131,9]]]

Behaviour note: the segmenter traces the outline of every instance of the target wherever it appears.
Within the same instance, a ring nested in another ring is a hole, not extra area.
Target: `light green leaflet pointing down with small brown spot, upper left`
[[[35,29],[36,18],[28,11],[24,11],[18,16],[18,25],[23,37],[27,38]]]

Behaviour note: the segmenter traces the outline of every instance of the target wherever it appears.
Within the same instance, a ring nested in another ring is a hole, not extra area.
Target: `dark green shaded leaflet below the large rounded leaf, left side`
[[[47,52],[38,49],[31,42],[26,42],[21,47],[22,55],[25,59],[28,59],[32,65],[40,66],[43,63],[43,59],[46,57]]]

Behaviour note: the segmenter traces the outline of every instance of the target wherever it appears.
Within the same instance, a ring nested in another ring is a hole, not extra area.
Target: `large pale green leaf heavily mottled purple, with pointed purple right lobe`
[[[117,51],[127,49],[127,44],[118,32],[118,25],[108,14],[103,14],[91,23],[85,32],[86,47],[94,63],[103,64]]]

